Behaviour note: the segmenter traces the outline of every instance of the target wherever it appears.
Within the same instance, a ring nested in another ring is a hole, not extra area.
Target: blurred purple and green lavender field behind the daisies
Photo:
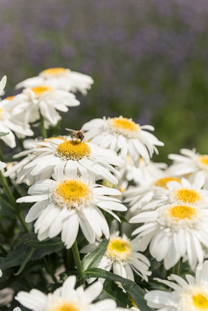
[[[154,125],[157,161],[181,147],[208,153],[208,0],[0,0],[6,96],[48,67],[95,81],[62,134],[123,115]]]

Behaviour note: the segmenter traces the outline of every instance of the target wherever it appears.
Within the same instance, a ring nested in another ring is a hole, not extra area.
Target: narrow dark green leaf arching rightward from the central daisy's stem
[[[85,270],[82,274],[80,274],[79,279],[82,279],[82,278],[88,279],[90,277],[101,277],[103,279],[108,279],[108,280],[131,285],[130,280],[127,280],[124,277],[114,274],[112,272],[102,270],[100,268],[90,268],[88,270]]]

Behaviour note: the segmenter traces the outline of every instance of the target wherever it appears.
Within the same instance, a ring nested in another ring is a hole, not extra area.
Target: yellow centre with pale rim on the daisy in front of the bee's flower
[[[67,205],[79,204],[83,199],[89,197],[89,188],[81,180],[66,179],[54,189],[53,196]]]

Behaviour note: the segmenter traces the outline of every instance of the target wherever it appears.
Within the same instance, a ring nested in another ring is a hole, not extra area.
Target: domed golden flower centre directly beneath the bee
[[[62,142],[56,148],[56,154],[64,160],[80,160],[91,154],[91,148],[84,142],[71,140]]]

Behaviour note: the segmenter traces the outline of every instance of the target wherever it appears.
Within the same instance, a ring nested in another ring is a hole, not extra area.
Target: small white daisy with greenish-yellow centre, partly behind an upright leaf
[[[87,253],[88,249],[92,250],[97,247],[97,243],[94,245],[87,245],[81,249],[80,253]],[[89,248],[90,247],[90,248]],[[134,281],[134,272],[141,276],[146,282],[148,277],[152,274],[148,271],[150,267],[149,259],[143,254],[138,252],[137,241],[130,241],[128,237],[123,234],[122,238],[119,236],[119,231],[110,235],[109,243],[98,268],[110,271],[113,268],[113,273],[120,275],[124,278]],[[92,283],[96,278],[90,278],[88,283]],[[105,279],[100,279],[105,281]]]

